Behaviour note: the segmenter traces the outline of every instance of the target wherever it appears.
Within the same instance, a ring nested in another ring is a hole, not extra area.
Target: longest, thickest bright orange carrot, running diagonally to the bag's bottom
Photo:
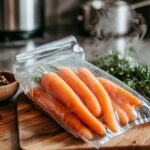
[[[41,79],[41,85],[76,114],[89,128],[100,135],[106,134],[104,125],[90,113],[75,92],[56,73],[49,72],[45,74]]]

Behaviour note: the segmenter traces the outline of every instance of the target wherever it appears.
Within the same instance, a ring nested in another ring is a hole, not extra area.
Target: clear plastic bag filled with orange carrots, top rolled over
[[[31,101],[96,148],[135,125],[150,122],[149,102],[85,61],[73,36],[16,58],[15,77]]]

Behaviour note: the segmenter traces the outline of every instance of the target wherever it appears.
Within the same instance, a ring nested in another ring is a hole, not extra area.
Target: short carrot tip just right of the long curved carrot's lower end
[[[126,125],[129,122],[129,118],[126,114],[126,112],[121,109],[121,107],[114,101],[112,101],[113,109],[116,112],[119,122],[122,125]]]

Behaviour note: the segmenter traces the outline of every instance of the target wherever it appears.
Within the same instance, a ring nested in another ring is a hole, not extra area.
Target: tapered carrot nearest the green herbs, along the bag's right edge
[[[141,101],[138,98],[136,98],[130,92],[121,88],[117,84],[101,77],[99,77],[98,80],[103,85],[103,87],[108,92],[111,98],[117,99],[118,101],[122,101],[123,103],[128,103],[133,106],[141,105]]]

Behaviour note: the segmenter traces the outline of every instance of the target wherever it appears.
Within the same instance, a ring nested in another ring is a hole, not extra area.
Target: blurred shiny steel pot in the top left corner
[[[43,27],[43,0],[0,0],[0,36],[28,38]]]

